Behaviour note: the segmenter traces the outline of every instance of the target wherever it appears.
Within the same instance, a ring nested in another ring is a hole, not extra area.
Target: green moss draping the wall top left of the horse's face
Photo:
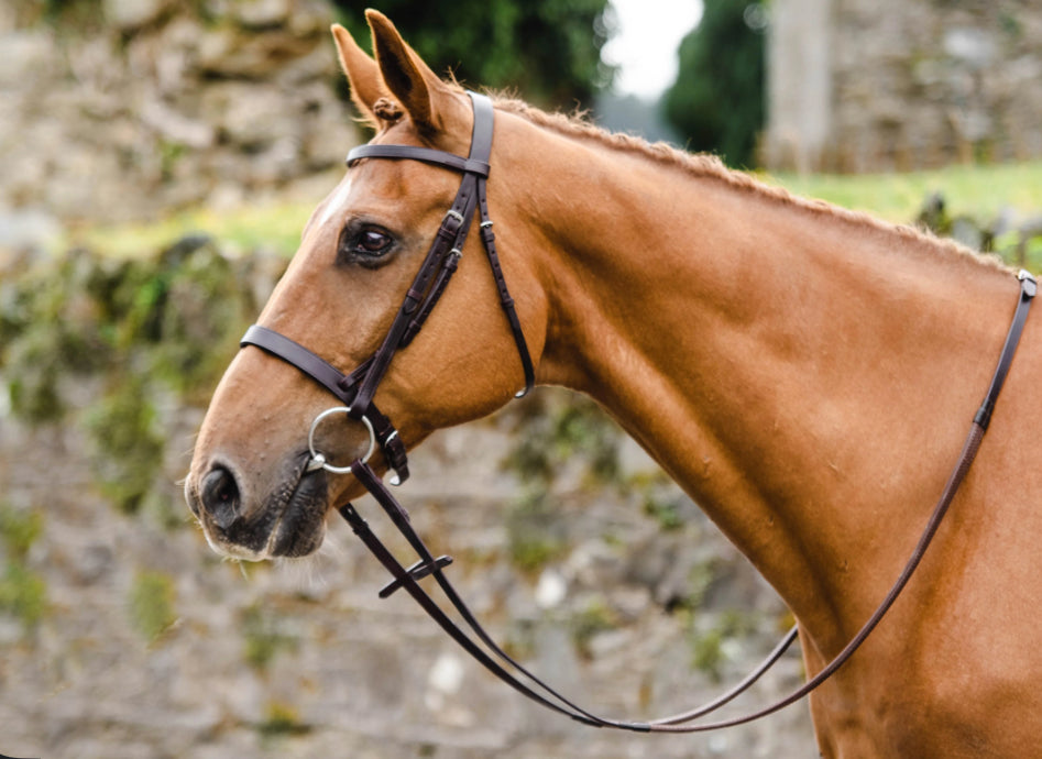
[[[153,257],[73,250],[0,283],[0,377],[12,416],[78,427],[101,491],[138,512],[169,490],[163,414],[208,400],[259,308],[248,272],[209,238],[189,235]]]

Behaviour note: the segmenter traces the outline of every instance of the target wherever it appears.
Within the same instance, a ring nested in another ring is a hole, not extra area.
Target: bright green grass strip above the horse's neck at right
[[[1005,208],[1021,216],[1042,216],[1042,162],[958,165],[904,174],[760,174],[796,195],[866,211],[887,221],[908,223],[923,200],[940,191],[950,216],[990,221]]]

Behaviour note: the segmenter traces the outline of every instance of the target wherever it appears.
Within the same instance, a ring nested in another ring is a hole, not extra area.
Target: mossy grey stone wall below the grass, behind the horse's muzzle
[[[472,662],[333,516],[308,559],[222,561],[180,495],[216,376],[284,262],[201,237],[0,276],[0,754],[76,759],[808,757],[805,704],[612,735]],[[737,682],[783,605],[592,402],[539,388],[410,451],[398,496],[512,653],[647,718]],[[404,561],[372,498],[358,502]],[[802,680],[790,651],[735,711]]]

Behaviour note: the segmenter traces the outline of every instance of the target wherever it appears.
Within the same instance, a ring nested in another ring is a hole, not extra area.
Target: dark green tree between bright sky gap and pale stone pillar
[[[663,98],[666,119],[689,148],[752,166],[764,127],[767,9],[749,0],[703,2],[699,25],[680,43],[677,81]]]

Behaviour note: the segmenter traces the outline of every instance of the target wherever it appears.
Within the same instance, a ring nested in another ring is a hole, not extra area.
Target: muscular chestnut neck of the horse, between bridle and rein
[[[716,170],[555,140],[566,154],[545,146],[526,189],[542,378],[605,406],[804,629],[842,645],[941,492],[1011,278]]]

